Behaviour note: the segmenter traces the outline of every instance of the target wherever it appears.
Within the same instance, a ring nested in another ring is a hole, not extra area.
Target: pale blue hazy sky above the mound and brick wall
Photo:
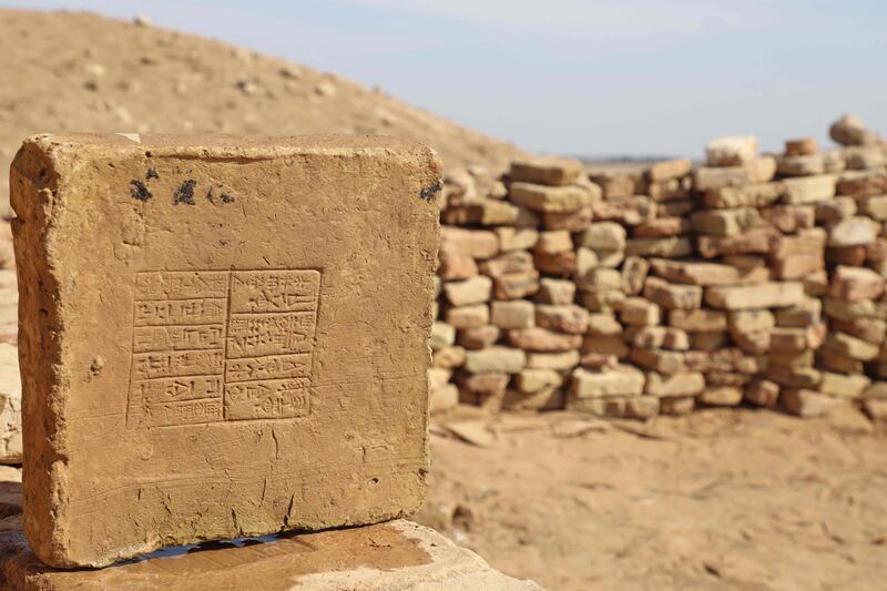
[[[723,134],[887,133],[883,0],[0,0],[88,9],[340,73],[541,152],[700,155]],[[4,81],[11,83],[13,81]]]

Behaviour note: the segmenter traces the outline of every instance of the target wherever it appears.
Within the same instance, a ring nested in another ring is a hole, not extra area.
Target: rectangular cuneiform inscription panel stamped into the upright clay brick
[[[319,288],[315,269],[137,273],[128,426],[308,415]]]

